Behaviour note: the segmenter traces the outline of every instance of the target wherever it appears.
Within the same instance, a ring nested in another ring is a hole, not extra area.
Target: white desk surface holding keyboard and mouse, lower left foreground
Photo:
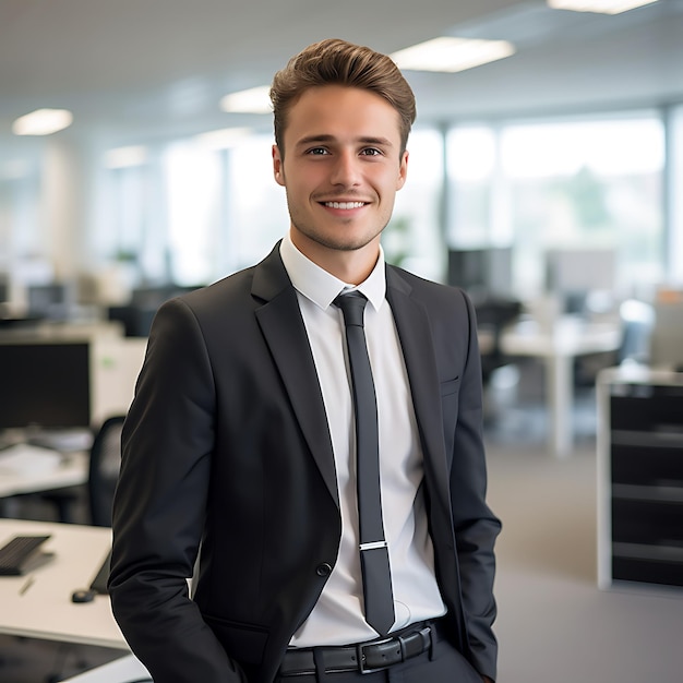
[[[108,596],[74,603],[111,547],[111,529],[75,524],[0,519],[0,544],[15,535],[51,534],[44,544],[55,553],[25,576],[0,576],[0,633],[130,651],[111,614]]]

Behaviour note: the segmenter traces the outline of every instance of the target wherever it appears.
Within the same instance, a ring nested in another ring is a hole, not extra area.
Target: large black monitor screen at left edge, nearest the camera
[[[86,343],[0,344],[0,429],[89,426]]]

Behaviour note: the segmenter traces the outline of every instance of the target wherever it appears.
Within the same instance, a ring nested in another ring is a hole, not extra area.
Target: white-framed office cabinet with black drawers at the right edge
[[[598,583],[683,587],[683,373],[598,378]]]

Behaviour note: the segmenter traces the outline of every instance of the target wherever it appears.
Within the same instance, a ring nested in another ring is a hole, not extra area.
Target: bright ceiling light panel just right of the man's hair
[[[442,37],[391,55],[400,69],[454,73],[515,53],[507,40]]]

